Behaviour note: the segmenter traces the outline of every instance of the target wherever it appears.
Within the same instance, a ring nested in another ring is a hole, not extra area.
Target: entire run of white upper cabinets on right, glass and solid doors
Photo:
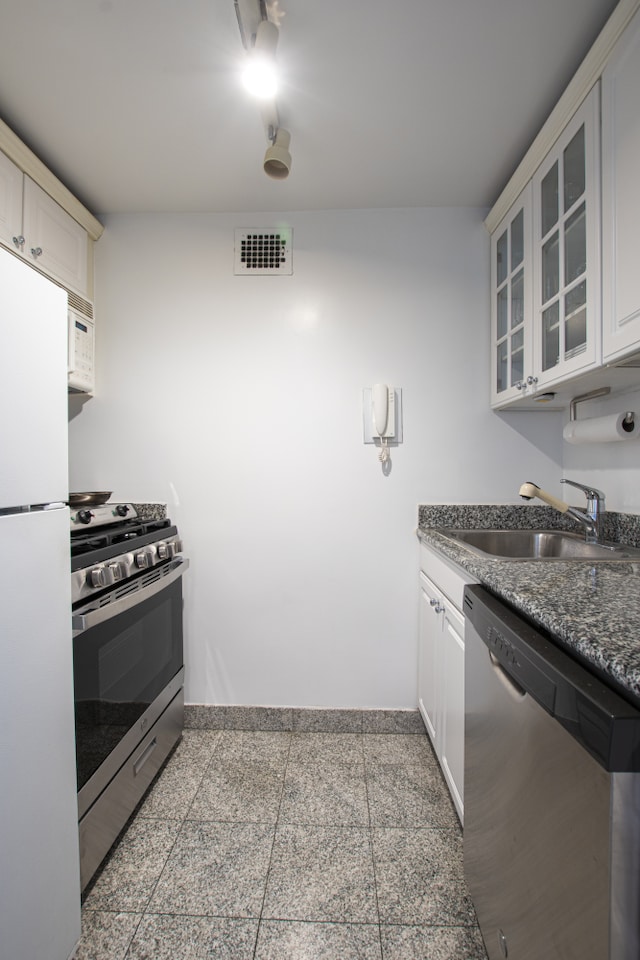
[[[494,408],[640,384],[639,98],[640,0],[618,0],[485,220]]]

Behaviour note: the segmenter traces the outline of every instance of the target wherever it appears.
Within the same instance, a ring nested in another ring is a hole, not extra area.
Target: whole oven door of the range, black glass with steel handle
[[[182,686],[188,564],[173,560],[74,611],[80,817]]]

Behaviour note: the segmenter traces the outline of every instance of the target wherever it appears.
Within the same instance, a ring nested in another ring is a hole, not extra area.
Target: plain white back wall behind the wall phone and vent
[[[191,558],[190,703],[416,705],[419,503],[558,488],[562,415],[489,409],[484,211],[105,218],[71,489],[163,501]],[[234,228],[293,227],[291,277]],[[402,389],[384,476],[362,388]]]

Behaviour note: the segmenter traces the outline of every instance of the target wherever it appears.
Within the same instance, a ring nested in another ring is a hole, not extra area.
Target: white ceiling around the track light
[[[233,0],[0,0],[0,116],[97,214],[491,205],[614,0],[280,0],[271,181]]]

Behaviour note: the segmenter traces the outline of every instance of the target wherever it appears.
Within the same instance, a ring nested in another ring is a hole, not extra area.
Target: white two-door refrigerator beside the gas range
[[[80,937],[67,295],[0,248],[0,955]]]

